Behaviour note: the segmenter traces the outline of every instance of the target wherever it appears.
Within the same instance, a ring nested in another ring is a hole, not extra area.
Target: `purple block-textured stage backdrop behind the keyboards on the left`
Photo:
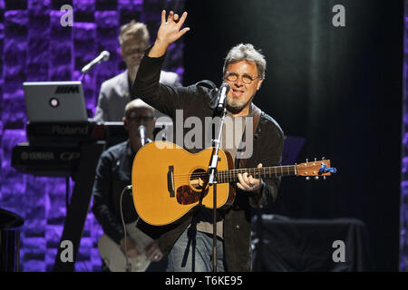
[[[73,7],[72,26],[62,24],[67,13],[61,11],[63,5]],[[183,7],[184,0],[0,0],[0,208],[24,218],[22,271],[53,269],[66,212],[65,179],[38,178],[11,167],[13,148],[26,141],[22,83],[79,80],[83,65],[107,50],[110,60],[83,79],[86,105],[93,114],[101,83],[124,70],[120,26],[131,19],[144,22],[154,40],[161,10],[182,12]],[[182,55],[182,43],[173,44],[164,69],[182,77]],[[101,270],[96,247],[101,234],[90,211],[76,271]]]

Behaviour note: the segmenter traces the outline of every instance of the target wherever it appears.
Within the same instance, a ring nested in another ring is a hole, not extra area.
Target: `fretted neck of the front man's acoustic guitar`
[[[217,179],[219,183],[238,182],[238,174],[248,172],[255,179],[272,179],[274,177],[296,175],[296,165],[263,167],[261,169],[232,169],[219,171]]]

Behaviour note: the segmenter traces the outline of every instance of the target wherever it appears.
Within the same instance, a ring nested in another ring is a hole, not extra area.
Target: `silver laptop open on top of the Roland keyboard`
[[[81,82],[23,82],[30,122],[88,121]]]

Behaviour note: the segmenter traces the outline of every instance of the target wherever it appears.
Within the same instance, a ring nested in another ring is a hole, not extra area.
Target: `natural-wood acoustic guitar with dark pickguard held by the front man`
[[[209,160],[213,150],[208,148],[199,153],[189,153],[168,141],[155,141],[143,146],[136,154],[131,169],[132,197],[139,217],[153,226],[163,226],[177,221],[198,205],[213,208],[213,187],[208,184]],[[219,150],[217,169],[217,208],[232,205],[238,173],[248,172],[256,179],[294,175],[318,179],[335,172],[330,168],[330,160],[261,169],[234,169],[231,155],[224,150]]]

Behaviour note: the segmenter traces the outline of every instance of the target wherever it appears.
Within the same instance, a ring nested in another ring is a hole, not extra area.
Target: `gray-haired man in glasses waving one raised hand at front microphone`
[[[166,11],[162,11],[157,39],[141,60],[131,90],[135,97],[141,98],[172,119],[176,117],[177,110],[182,110],[184,120],[194,116],[204,124],[206,118],[214,116],[218,104],[217,89],[209,88],[205,82],[189,87],[160,83],[161,65],[170,43],[189,32],[188,27],[181,28],[186,18],[186,12],[180,17],[170,11],[166,19]],[[276,121],[252,103],[265,80],[265,70],[265,57],[252,44],[238,44],[231,48],[225,59],[222,77],[230,87],[226,107],[227,117],[236,123],[234,140],[236,137],[243,140],[245,126],[253,126],[253,134],[245,136],[252,140],[251,156],[240,158],[238,146],[223,148],[232,155],[236,169],[280,165],[284,133]],[[252,122],[248,122],[248,118],[251,118]],[[187,129],[176,130],[184,131],[185,134]],[[202,130],[202,133],[205,134],[205,131]],[[226,135],[227,131],[223,131],[223,140]],[[202,140],[206,140],[206,136],[203,136]],[[238,174],[238,179],[239,182],[234,184],[237,192],[233,206],[217,210],[218,271],[251,270],[251,208],[264,207],[268,201],[275,200],[280,183],[277,177],[262,180],[247,172]],[[173,229],[159,238],[157,242],[160,250],[164,254],[169,253],[168,271],[213,270],[212,223],[212,209],[199,208],[181,218]]]

